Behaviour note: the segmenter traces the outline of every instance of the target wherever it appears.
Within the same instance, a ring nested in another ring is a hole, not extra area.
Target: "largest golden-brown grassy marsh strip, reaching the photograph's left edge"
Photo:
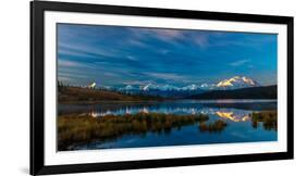
[[[98,118],[89,115],[62,115],[58,118],[58,149],[69,150],[73,144],[115,139],[128,134],[168,133],[172,128],[204,123],[208,118],[206,114],[164,113],[106,115]]]

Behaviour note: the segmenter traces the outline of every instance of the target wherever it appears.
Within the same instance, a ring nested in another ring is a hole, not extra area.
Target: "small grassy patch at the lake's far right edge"
[[[258,123],[267,130],[278,130],[278,112],[277,111],[262,111],[252,113],[252,126],[258,127]]]

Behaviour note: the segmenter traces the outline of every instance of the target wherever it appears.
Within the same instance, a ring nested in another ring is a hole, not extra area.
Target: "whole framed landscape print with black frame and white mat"
[[[293,159],[293,17],[30,2],[30,174]]]

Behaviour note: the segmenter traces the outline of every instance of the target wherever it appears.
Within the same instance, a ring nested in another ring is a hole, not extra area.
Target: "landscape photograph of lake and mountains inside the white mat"
[[[57,23],[57,150],[278,141],[278,34]]]

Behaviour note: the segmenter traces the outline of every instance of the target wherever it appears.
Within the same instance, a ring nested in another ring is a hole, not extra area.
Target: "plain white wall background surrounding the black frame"
[[[68,0],[65,0],[68,1]],[[306,10],[303,0],[74,0],[119,5],[237,12],[295,17],[295,160],[78,175],[305,175]],[[0,5],[0,175],[27,175],[29,161],[29,1]]]

